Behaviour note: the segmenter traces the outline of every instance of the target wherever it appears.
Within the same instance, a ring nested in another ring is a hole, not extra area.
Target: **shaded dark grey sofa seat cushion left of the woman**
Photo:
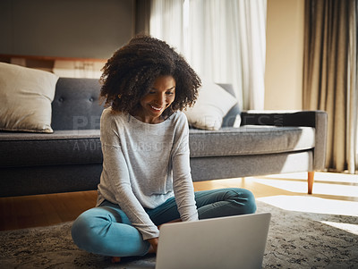
[[[0,132],[0,152],[0,167],[102,163],[99,130]]]

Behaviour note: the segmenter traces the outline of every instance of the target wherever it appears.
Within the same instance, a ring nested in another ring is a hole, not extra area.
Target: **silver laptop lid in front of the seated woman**
[[[161,226],[156,269],[261,268],[271,214]]]

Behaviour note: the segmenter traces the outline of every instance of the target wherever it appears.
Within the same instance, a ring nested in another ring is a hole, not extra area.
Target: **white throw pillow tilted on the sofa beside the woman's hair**
[[[236,103],[236,98],[224,88],[203,79],[195,105],[187,108],[184,113],[189,124],[195,128],[219,130],[224,116]]]

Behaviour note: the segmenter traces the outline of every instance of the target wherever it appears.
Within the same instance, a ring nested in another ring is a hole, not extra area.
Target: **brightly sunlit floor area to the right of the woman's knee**
[[[196,183],[211,184],[213,189],[241,186],[250,189],[256,199],[271,206],[305,213],[358,216],[358,175],[316,172],[313,193],[307,194],[307,172],[244,179]],[[358,235],[357,223],[322,222]]]

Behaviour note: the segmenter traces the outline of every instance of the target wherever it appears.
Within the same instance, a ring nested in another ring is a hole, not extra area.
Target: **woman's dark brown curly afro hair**
[[[117,112],[131,113],[159,76],[175,79],[175,101],[163,113],[169,116],[195,103],[200,78],[182,55],[166,42],[137,36],[115,52],[102,69],[100,97]]]

